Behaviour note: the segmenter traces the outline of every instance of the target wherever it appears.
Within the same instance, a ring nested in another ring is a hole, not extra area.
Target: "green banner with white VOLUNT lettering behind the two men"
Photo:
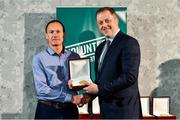
[[[57,7],[56,17],[66,30],[64,44],[67,49],[89,57],[91,61],[91,78],[94,81],[94,53],[96,47],[104,40],[96,24],[96,11],[100,7]],[[127,33],[127,8],[113,7],[119,17],[122,32]]]

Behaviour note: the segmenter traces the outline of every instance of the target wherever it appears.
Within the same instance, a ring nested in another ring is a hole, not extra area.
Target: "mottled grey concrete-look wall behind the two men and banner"
[[[0,0],[0,118],[33,118],[32,55],[46,47],[56,6],[127,7],[128,34],[141,46],[141,95],[171,96],[180,118],[180,0]]]

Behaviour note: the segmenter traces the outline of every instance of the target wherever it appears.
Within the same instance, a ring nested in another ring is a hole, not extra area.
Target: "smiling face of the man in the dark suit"
[[[96,16],[99,31],[106,37],[114,37],[115,32],[118,30],[118,19],[112,15],[108,10],[100,12]]]

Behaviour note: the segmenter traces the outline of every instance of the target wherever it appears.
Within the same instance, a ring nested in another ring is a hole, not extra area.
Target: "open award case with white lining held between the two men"
[[[69,70],[74,90],[81,90],[86,87],[83,84],[84,82],[92,82],[89,58],[69,60]]]

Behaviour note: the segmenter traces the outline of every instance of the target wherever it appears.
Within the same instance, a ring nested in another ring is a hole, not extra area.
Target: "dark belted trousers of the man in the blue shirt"
[[[75,104],[38,101],[35,119],[78,119],[78,115]]]

